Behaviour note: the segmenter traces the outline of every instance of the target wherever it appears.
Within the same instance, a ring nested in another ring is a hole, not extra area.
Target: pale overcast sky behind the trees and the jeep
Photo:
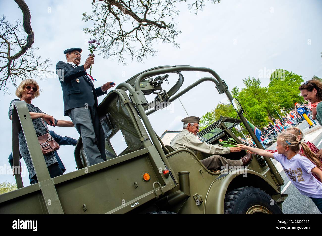
[[[59,60],[65,60],[63,51],[67,48],[80,47],[83,55],[89,54],[87,41],[92,38],[82,29],[90,27],[91,23],[82,21],[82,13],[91,12],[91,0],[25,2],[31,12],[35,35],[33,46],[39,48],[36,54],[50,58],[52,70],[55,70]],[[313,75],[322,77],[322,1],[222,0],[220,4],[208,3],[198,15],[189,13],[184,3],[178,5],[178,8],[180,15],[175,22],[178,22],[177,28],[182,30],[177,38],[180,48],[170,44],[155,45],[158,50],[155,57],[149,56],[142,63],[128,61],[126,66],[97,55],[92,72],[97,79],[94,83],[96,87],[107,81],[118,84],[141,71],[163,65],[209,67],[226,81],[230,90],[236,85],[243,87],[242,80],[245,77],[250,75],[258,78],[263,72],[267,76],[261,78],[262,86],[266,86],[269,83],[269,72],[278,68],[307,77],[305,80]],[[0,15],[5,15],[10,21],[22,19],[22,13],[13,0],[0,1]],[[185,82],[180,90],[204,75],[184,73]],[[32,103],[54,118],[70,120],[63,116],[59,80],[48,77],[38,81],[42,93]],[[176,79],[172,76],[170,85]],[[170,85],[164,88],[169,89]],[[15,181],[12,175],[3,173],[3,169],[9,165],[8,156],[12,152],[11,121],[7,111],[10,101],[16,98],[15,89],[10,84],[9,92],[12,95],[0,92],[3,111],[0,114],[0,182]],[[104,96],[101,96],[98,101],[103,99]],[[200,117],[225,99],[225,95],[219,95],[211,82],[204,82],[181,97],[188,114]],[[185,116],[181,104],[175,101],[171,110],[155,112],[149,118],[157,134],[161,135],[165,130],[181,130],[180,120]],[[51,129],[62,136],[79,137],[74,127]],[[67,169],[65,173],[75,170],[73,150],[73,146],[62,146],[58,151]],[[23,178],[24,186],[29,185],[27,175]]]

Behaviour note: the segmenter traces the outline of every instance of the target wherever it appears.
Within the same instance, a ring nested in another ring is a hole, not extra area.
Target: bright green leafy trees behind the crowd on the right
[[[266,126],[270,118],[279,118],[281,108],[293,108],[295,102],[303,102],[298,87],[303,83],[302,76],[278,69],[270,76],[270,83],[262,87],[260,79],[248,76],[243,80],[245,87],[234,87],[231,94],[237,98],[244,109],[244,116],[258,128]],[[203,129],[220,116],[234,118],[237,113],[229,104],[218,104],[200,120]]]

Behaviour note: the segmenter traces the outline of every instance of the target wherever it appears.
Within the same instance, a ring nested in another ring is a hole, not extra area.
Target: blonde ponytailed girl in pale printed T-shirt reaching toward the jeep
[[[310,197],[322,213],[322,183],[311,174],[314,173],[322,179],[322,170],[319,169],[321,162],[316,154],[309,149],[308,145],[300,142],[296,135],[279,134],[276,146],[278,153],[269,153],[263,149],[253,148],[244,144],[237,145],[244,150],[273,158],[281,163],[291,183],[298,188],[301,194]],[[300,145],[305,156],[298,154]]]

